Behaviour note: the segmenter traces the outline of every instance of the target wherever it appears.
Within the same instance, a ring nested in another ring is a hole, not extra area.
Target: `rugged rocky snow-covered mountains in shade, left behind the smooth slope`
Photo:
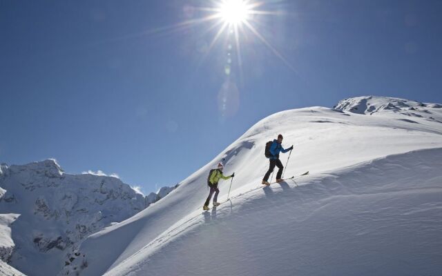
[[[28,275],[45,276],[72,262],[88,235],[135,215],[175,188],[144,197],[115,177],[66,174],[51,159],[2,164],[0,187],[1,259]]]

